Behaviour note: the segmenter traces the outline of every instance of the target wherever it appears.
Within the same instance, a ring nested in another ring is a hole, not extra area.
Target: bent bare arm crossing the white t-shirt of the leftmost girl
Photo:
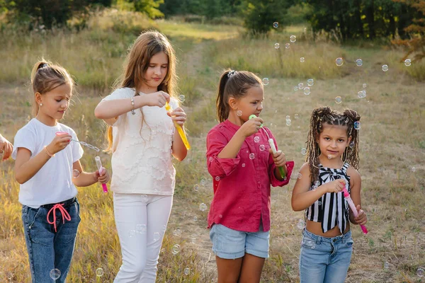
[[[61,151],[70,142],[71,135],[62,134],[60,136],[56,136],[52,142],[46,146],[47,151],[50,154],[56,154]],[[24,147],[18,148],[16,153],[16,161],[15,161],[15,179],[18,183],[23,184],[26,183],[30,178],[33,178],[34,175],[40,171],[42,166],[49,161],[50,157],[46,151],[40,151],[36,156],[31,158],[31,151]]]

